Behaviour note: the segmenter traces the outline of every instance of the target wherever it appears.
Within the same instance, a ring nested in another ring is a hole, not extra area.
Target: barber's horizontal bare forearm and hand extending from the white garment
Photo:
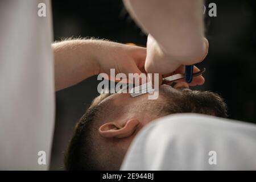
[[[68,40],[52,44],[55,56],[55,89],[73,86],[99,73],[146,73],[146,48],[127,46],[104,40]],[[184,73],[181,66],[170,74]],[[194,71],[199,71],[194,68]],[[190,86],[204,84],[204,77],[196,77]]]

